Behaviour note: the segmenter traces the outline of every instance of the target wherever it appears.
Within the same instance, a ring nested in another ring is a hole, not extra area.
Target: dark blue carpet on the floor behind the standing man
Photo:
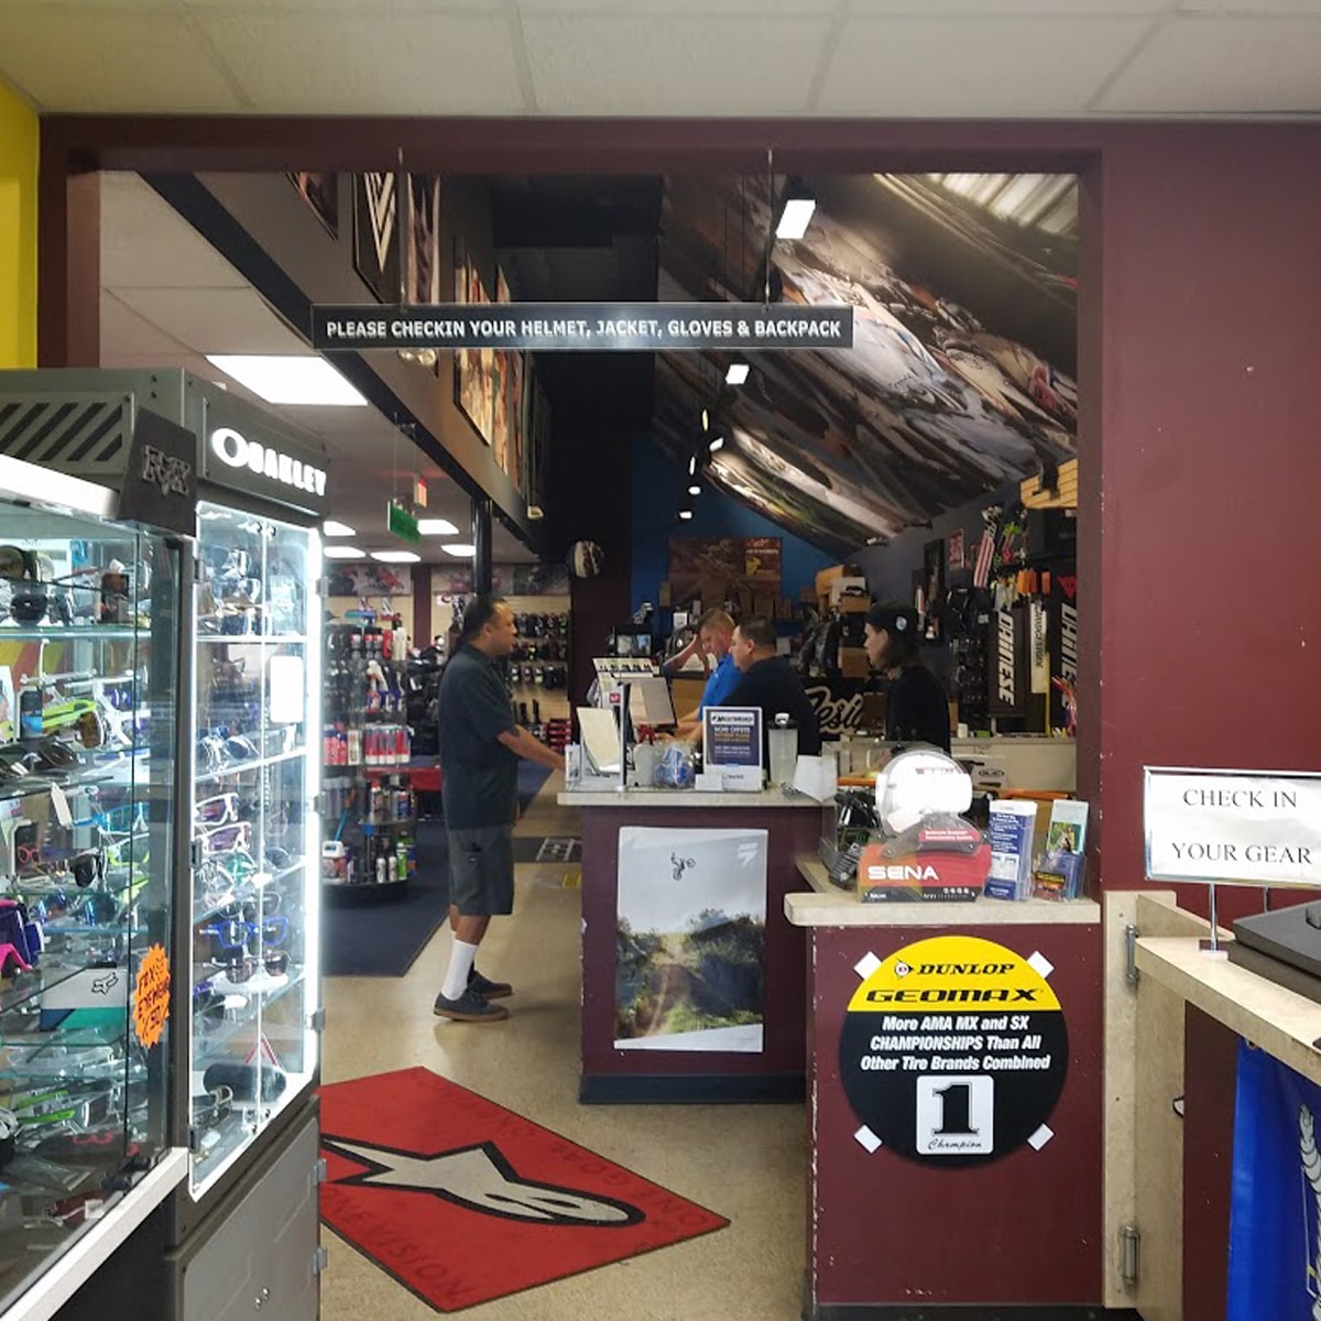
[[[538,795],[550,771],[518,766],[519,808]],[[439,819],[417,823],[417,875],[406,886],[339,890],[324,886],[321,956],[328,978],[402,978],[449,911],[449,852]],[[524,859],[515,857],[519,861]]]

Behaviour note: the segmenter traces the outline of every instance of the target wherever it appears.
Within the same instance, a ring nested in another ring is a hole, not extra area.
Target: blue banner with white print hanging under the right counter
[[[1226,1321],[1321,1314],[1321,1087],[1239,1044]]]

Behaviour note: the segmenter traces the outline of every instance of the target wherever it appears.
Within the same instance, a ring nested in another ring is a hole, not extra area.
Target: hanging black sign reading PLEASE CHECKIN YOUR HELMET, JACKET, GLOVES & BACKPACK
[[[853,309],[793,303],[432,303],[312,309],[314,349],[851,349]]]

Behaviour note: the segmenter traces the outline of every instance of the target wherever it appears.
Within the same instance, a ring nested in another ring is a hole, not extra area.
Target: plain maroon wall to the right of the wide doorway
[[[1102,157],[1094,622],[1111,885],[1143,878],[1144,764],[1321,760],[1318,147],[1308,128],[1172,127]]]

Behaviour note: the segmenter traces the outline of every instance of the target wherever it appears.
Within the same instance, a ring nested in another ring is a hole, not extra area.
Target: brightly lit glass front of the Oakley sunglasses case
[[[314,531],[199,503],[189,1057],[196,1201],[305,1096],[318,1065],[318,573]]]

